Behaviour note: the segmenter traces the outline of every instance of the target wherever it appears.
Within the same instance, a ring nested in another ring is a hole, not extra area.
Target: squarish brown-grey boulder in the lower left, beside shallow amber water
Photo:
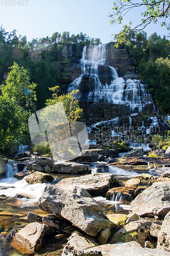
[[[46,225],[30,223],[15,234],[12,246],[23,254],[33,254],[41,250],[50,233],[51,230]]]

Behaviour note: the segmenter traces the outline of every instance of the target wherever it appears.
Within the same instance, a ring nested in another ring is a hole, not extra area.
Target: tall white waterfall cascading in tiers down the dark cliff
[[[106,58],[107,44],[85,46],[80,61],[82,75],[69,85],[68,91],[79,89],[77,99],[126,104],[135,112],[153,103],[145,84],[118,77],[113,67],[105,65]]]

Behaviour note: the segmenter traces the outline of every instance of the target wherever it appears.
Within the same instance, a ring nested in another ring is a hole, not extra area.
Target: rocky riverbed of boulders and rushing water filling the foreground
[[[26,170],[0,183],[0,255],[170,255],[169,168],[142,174],[121,159],[22,159]]]

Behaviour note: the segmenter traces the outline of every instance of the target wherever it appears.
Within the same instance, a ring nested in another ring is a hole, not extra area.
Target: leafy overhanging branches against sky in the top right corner
[[[157,23],[160,18],[164,20],[161,22],[161,26],[165,26],[168,30],[170,29],[169,23],[166,22],[170,16],[170,1],[168,0],[116,0],[113,2],[113,13],[110,14],[111,24],[121,24],[123,18],[127,13],[136,8],[144,8],[144,12],[141,13],[140,23],[131,27],[132,22],[129,26],[125,25],[122,30],[122,34],[129,32],[139,32],[151,23]],[[134,10],[135,11],[135,10]]]

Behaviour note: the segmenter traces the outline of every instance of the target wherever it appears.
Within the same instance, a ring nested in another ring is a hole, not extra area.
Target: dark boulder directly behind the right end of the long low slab
[[[81,162],[97,162],[97,161],[105,161],[105,152],[100,149],[91,149],[84,150],[81,152],[81,155],[75,160]]]

